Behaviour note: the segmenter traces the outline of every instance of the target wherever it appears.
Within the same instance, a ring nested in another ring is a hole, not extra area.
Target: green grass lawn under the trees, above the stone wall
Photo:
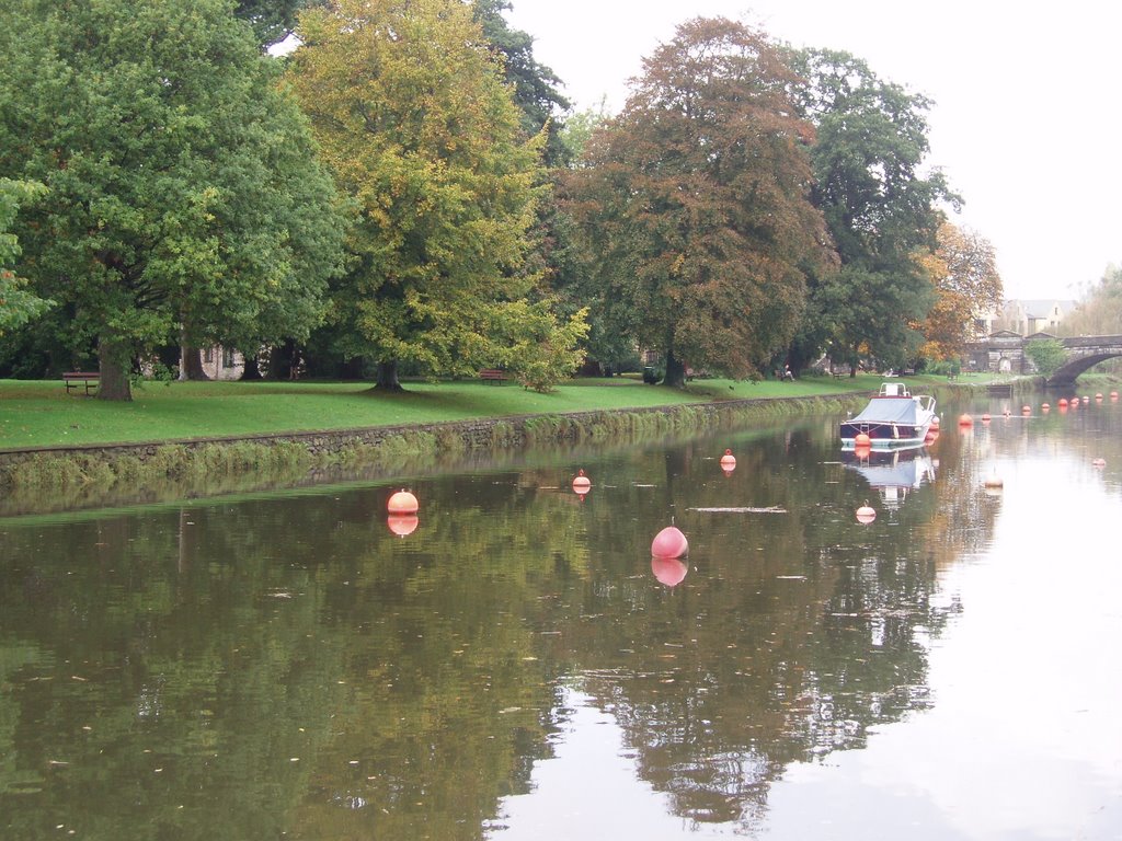
[[[369,382],[145,382],[134,388],[128,404],[67,395],[57,380],[0,380],[0,450],[809,397],[875,390],[881,381],[872,375],[756,383],[711,379],[674,390],[614,377],[573,380],[548,395],[513,382],[477,381],[408,382],[402,394],[374,391]],[[946,379],[912,377],[909,382],[923,390]]]

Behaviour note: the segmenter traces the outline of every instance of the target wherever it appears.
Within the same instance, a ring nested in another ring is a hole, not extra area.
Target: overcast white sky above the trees
[[[578,109],[626,99],[642,58],[696,17],[843,49],[935,100],[928,163],[988,239],[1006,297],[1077,297],[1122,264],[1122,3],[994,0],[512,0],[507,19]]]

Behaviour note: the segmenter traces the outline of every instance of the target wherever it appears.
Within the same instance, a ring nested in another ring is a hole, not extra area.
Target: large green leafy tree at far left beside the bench
[[[223,0],[4,0],[0,175],[47,186],[21,266],[73,307],[104,399],[137,357],[306,333],[342,222],[306,122]],[[283,316],[277,315],[284,313]]]

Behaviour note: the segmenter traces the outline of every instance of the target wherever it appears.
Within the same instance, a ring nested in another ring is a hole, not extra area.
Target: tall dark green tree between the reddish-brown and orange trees
[[[939,205],[958,201],[939,172],[920,173],[930,102],[846,53],[802,50],[791,63],[802,76],[800,111],[817,129],[815,204],[840,258],[839,271],[812,280],[818,321],[803,333],[854,370],[865,354],[902,364],[934,301],[922,258],[936,246]]]

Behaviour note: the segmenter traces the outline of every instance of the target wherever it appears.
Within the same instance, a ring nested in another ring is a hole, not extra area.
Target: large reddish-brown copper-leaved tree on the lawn
[[[644,61],[570,179],[609,321],[684,367],[756,373],[794,333],[804,272],[828,261],[809,201],[809,123],[767,38],[697,18]]]

